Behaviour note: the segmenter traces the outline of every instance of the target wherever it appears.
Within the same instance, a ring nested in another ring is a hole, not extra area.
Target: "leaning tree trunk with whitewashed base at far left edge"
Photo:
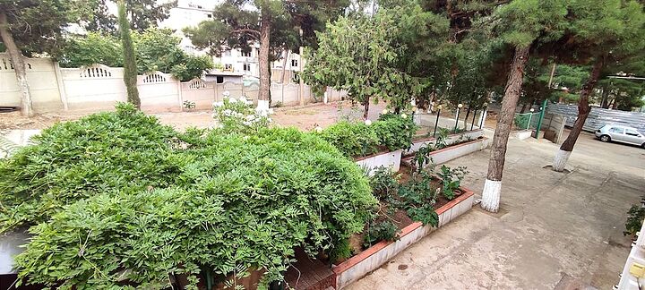
[[[13,41],[13,35],[11,30],[9,30],[9,22],[4,11],[0,11],[0,38],[2,38],[4,46],[12,60],[13,71],[15,72],[18,88],[21,92],[22,115],[32,116],[33,107],[31,106],[31,91],[29,83],[27,82],[27,68],[25,67],[20,49],[18,49]]]

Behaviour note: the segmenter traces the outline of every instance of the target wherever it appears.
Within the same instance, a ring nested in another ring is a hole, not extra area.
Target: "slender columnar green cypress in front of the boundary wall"
[[[141,109],[141,99],[139,90],[136,87],[137,67],[136,56],[134,56],[134,47],[132,36],[130,35],[130,24],[125,15],[124,0],[118,2],[118,21],[119,31],[121,34],[121,45],[124,53],[124,81],[125,89],[128,94],[128,102],[133,103],[138,109]]]

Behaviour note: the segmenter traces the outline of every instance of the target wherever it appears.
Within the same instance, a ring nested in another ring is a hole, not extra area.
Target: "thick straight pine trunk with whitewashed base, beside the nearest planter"
[[[511,71],[506,81],[506,89],[502,99],[502,108],[497,120],[497,128],[493,137],[491,157],[488,161],[488,174],[482,192],[482,209],[497,212],[499,209],[500,192],[502,190],[503,165],[506,157],[506,143],[511,132],[513,116],[520,98],[524,65],[529,60],[529,47],[515,47],[515,55]]]

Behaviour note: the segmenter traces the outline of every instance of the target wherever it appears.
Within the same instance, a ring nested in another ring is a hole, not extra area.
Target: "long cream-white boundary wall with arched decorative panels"
[[[60,68],[49,58],[25,58],[27,80],[36,112],[100,111],[114,108],[116,102],[126,101],[124,69],[94,64],[81,68]],[[246,96],[257,104],[259,84],[195,79],[180,82],[168,73],[153,72],[137,76],[137,88],[142,109],[151,112],[181,111],[184,102],[195,104],[196,109],[211,109],[214,101],[222,99],[224,91],[232,97]],[[300,104],[300,85],[297,83],[272,83],[273,103],[282,106]],[[323,96],[314,98],[307,85],[303,87],[306,103],[321,102]],[[340,100],[347,91],[327,90],[327,100]],[[0,107],[20,107],[18,85],[8,55],[0,53]]]

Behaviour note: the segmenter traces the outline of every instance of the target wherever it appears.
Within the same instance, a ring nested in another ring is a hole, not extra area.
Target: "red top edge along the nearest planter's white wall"
[[[454,206],[460,204],[461,201],[467,200],[469,197],[473,196],[474,192],[470,191],[469,189],[465,187],[460,187],[460,190],[464,193],[462,193],[460,196],[455,198],[454,200],[451,200],[450,202],[444,204],[441,208],[436,209],[437,215],[443,214],[446,210],[452,209]],[[401,230],[400,237],[408,235],[412,231],[416,230],[417,228],[423,226],[421,222],[415,222],[410,224],[409,226],[404,227]],[[356,256],[349,258],[348,260],[343,261],[340,263],[338,266],[334,267],[331,269],[331,271],[334,272],[334,274],[338,277],[340,274],[343,272],[347,271],[348,269],[356,266],[359,262],[366,260],[368,257],[374,255],[374,253],[379,252],[383,250],[386,246],[388,246],[391,243],[395,243],[392,241],[381,241],[379,243],[374,244],[373,246],[369,247],[366,249],[366,251],[359,252]]]

